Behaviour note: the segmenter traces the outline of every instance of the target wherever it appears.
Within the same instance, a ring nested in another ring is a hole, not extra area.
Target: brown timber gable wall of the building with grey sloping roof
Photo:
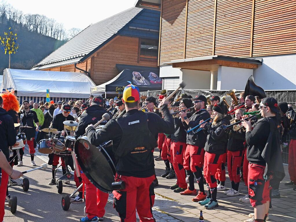
[[[77,67],[90,72],[90,77],[96,85],[105,83],[119,74],[116,64],[157,67],[156,60],[141,61],[138,59],[138,53],[139,38],[116,36],[86,62],[77,64]],[[74,64],[45,70],[80,72],[74,67]]]

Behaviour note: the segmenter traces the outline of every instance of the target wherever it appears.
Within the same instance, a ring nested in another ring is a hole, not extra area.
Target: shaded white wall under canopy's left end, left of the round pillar
[[[210,89],[211,72],[181,69],[180,79],[186,83],[184,89]]]

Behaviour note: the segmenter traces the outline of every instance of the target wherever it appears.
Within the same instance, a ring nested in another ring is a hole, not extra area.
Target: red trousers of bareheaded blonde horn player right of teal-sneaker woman
[[[240,166],[242,165],[243,150],[227,152],[227,166],[230,181],[238,183],[240,181]]]

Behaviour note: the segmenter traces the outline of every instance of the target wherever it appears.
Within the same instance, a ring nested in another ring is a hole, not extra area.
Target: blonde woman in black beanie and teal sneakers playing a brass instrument
[[[210,209],[218,207],[217,202],[217,181],[215,173],[219,165],[223,162],[225,148],[227,145],[227,132],[223,130],[223,125],[229,125],[229,119],[225,113],[224,102],[216,103],[213,107],[215,116],[213,123],[205,123],[200,127],[208,133],[205,143],[204,175],[207,181],[208,194],[205,200],[199,201],[200,205],[205,205]]]

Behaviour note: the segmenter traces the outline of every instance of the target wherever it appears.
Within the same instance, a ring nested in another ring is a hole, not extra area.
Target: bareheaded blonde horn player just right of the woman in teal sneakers
[[[238,109],[235,111],[235,120],[237,122],[241,120],[244,115],[244,109]],[[239,182],[240,171],[239,168],[242,164],[242,158],[244,156],[244,140],[246,133],[241,128],[235,131],[234,128],[229,131],[228,143],[227,143],[227,163],[228,163],[228,175],[231,181],[231,189],[224,192],[227,196],[239,195]]]

